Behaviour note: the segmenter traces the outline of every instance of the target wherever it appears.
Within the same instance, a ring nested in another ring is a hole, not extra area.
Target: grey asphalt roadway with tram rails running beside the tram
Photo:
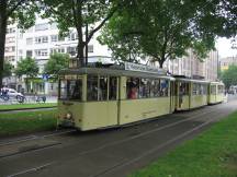
[[[136,126],[0,143],[0,176],[124,177],[234,110],[237,98],[230,96],[225,104]]]

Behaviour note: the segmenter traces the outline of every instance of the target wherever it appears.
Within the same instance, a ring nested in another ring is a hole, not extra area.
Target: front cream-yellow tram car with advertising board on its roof
[[[174,110],[174,79],[154,72],[79,68],[59,74],[58,125],[82,131],[146,120]]]

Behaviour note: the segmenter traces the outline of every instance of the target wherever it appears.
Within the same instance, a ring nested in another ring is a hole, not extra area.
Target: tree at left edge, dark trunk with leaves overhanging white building
[[[0,87],[3,76],[7,25],[18,22],[19,27],[27,28],[34,24],[37,10],[37,0],[0,1]]]

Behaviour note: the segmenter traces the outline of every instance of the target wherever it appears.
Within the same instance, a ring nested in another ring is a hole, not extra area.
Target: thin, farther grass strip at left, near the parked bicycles
[[[57,106],[57,103],[0,105],[0,110],[40,108],[40,107],[52,107],[52,106]]]

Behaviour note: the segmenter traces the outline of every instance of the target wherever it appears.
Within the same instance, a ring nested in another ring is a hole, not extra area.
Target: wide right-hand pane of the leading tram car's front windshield
[[[68,81],[68,98],[81,101],[82,95],[82,80],[69,80]]]

